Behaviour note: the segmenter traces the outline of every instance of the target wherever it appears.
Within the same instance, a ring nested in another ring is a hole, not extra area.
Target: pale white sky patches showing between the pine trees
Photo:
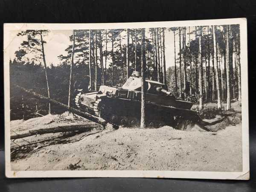
[[[190,31],[194,30],[195,27],[190,27]],[[188,33],[189,29],[187,27],[186,33]],[[69,41],[69,36],[72,35],[72,30],[52,30],[49,32],[48,36],[44,37],[44,41],[47,43],[44,45],[45,49],[45,55],[46,55],[46,61],[47,65],[50,66],[50,64],[57,65],[60,63],[58,59],[58,55],[67,55],[67,52],[65,52],[65,49],[68,45],[71,44]],[[20,47],[20,44],[22,41],[26,40],[25,36],[17,36],[18,31],[12,31],[11,33],[11,39],[12,42],[10,44],[10,58],[13,60],[15,58],[15,51],[17,51]],[[176,32],[177,33],[177,32]],[[124,32],[124,35],[126,32]],[[146,36],[148,38],[150,37],[150,34],[148,33],[148,29],[146,29]],[[195,39],[195,35],[190,35],[191,39]],[[182,38],[181,38],[182,39]],[[189,37],[187,35],[186,42],[188,43]],[[182,40],[181,40],[182,41]],[[126,44],[127,40],[123,40],[122,44]],[[131,42],[131,39],[130,39]],[[176,44],[176,58],[177,53],[179,52],[179,37],[178,35],[175,35],[175,44]],[[105,43],[103,43],[103,46],[105,46]],[[166,68],[174,65],[174,35],[172,31],[165,31],[165,46],[166,46]],[[105,50],[105,48],[103,47]],[[108,50],[111,50],[111,44],[108,43]],[[33,55],[28,55],[28,58],[32,58]],[[110,61],[108,61],[110,62]]]

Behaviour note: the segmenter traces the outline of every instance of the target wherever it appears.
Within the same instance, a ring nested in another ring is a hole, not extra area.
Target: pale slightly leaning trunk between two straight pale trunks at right
[[[213,44],[214,44],[214,63],[215,63],[215,74],[216,74],[216,89],[217,89],[217,101],[218,101],[218,109],[221,109],[221,92],[220,92],[220,83],[219,83],[219,71],[218,71],[218,49],[216,42],[216,34],[215,34],[215,26],[213,26]]]

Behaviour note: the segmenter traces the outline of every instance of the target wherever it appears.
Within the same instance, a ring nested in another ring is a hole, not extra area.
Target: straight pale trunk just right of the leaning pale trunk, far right
[[[230,29],[229,25],[227,25],[227,110],[230,110],[231,104],[230,104],[230,52],[229,52],[229,47],[230,47]]]

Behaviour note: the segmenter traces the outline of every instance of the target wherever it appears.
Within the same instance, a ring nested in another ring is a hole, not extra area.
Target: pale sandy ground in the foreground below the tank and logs
[[[18,134],[56,123],[81,122],[95,128],[90,132],[44,134],[12,142],[12,170],[242,171],[239,121],[212,125],[215,132],[180,131],[169,126],[117,130],[108,126],[103,130],[93,122],[66,113],[16,120],[11,122],[11,129],[12,134]]]

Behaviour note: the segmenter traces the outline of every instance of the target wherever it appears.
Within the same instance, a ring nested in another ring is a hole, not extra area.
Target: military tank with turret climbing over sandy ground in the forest
[[[136,127],[140,125],[141,75],[134,71],[122,87],[99,87],[99,91],[83,93],[75,98],[76,106],[94,116],[99,116],[116,125]],[[145,80],[146,125],[159,128],[164,125],[175,127],[183,120],[199,122],[196,111],[190,110],[193,103],[176,99],[166,84]]]

